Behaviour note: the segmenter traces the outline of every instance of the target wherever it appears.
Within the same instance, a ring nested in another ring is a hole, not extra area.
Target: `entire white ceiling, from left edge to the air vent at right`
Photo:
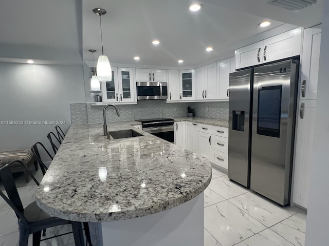
[[[322,2],[298,13],[267,5],[268,0],[10,0],[0,8],[0,61],[17,58],[56,60],[70,64],[91,61],[88,49],[100,54],[99,17],[104,8],[104,53],[111,63],[196,66],[231,55],[241,40],[282,23],[309,27],[321,22]],[[261,17],[260,17],[261,16]],[[269,28],[258,24],[272,19]],[[280,20],[280,22],[273,19]],[[158,47],[152,39],[161,41]],[[205,52],[206,46],[214,51]],[[178,59],[184,59],[182,65]],[[13,60],[12,60],[13,61]]]

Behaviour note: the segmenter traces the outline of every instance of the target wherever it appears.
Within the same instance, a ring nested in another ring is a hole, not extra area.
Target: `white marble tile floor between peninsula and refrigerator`
[[[304,246],[305,211],[282,208],[215,169],[204,206],[205,246]]]

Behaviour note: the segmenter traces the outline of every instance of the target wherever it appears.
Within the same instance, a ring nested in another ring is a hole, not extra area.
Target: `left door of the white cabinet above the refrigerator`
[[[254,43],[235,51],[235,68],[246,68],[263,63],[263,41]]]

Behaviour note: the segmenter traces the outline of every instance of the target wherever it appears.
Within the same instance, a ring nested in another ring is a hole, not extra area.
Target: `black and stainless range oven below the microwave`
[[[171,118],[136,119],[141,122],[143,131],[169,142],[174,142],[174,120]]]

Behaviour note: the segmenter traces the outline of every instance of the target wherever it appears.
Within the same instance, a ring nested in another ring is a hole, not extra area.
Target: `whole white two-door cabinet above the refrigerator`
[[[235,69],[300,55],[302,28],[296,28],[235,50]]]

